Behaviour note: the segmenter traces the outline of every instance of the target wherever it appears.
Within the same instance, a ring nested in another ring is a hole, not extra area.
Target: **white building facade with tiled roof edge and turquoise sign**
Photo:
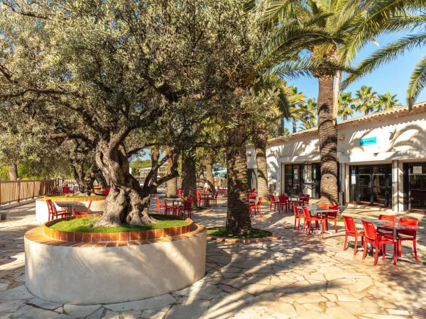
[[[341,204],[426,211],[426,102],[339,122]],[[317,128],[268,141],[268,181],[275,194],[320,194]],[[247,147],[249,174],[256,170]]]

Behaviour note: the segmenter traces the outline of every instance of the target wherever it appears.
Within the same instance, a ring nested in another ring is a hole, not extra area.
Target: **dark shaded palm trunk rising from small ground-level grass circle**
[[[249,194],[247,191],[247,159],[245,127],[241,120],[226,132],[226,167],[228,169],[228,210],[226,231],[233,234],[251,233]]]

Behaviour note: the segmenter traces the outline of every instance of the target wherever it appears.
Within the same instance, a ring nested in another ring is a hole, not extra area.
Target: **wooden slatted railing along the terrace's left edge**
[[[0,181],[0,205],[19,203],[50,193],[51,187],[74,184],[75,179],[39,179],[31,181]]]

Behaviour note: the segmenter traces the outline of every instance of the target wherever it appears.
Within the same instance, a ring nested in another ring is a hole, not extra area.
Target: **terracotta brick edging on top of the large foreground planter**
[[[97,217],[99,214],[88,214],[88,217]],[[29,230],[25,237],[28,240],[40,242],[45,245],[72,246],[72,247],[115,247],[124,245],[145,245],[156,242],[170,242],[189,237],[202,235],[205,228],[195,224],[187,218],[189,224],[173,228],[155,230],[126,231],[120,233],[74,233],[53,230],[48,226],[59,223],[62,220],[84,218],[86,216],[71,216],[50,220],[40,227]]]

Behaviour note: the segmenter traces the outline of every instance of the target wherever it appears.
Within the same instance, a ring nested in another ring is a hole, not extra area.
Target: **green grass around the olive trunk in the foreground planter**
[[[76,218],[60,221],[59,223],[51,225],[50,228],[74,233],[119,233],[130,230],[153,230],[189,224],[185,220],[171,219],[168,216],[155,215],[153,218],[158,220],[158,223],[143,226],[124,224],[116,227],[88,227],[87,225],[89,224],[95,224],[99,220],[99,217]]]

